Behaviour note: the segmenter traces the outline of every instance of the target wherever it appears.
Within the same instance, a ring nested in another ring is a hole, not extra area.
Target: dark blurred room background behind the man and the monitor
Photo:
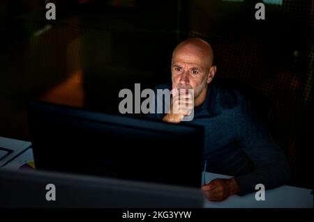
[[[172,50],[198,37],[214,49],[217,78],[271,104],[292,184],[313,189],[313,1],[265,3],[265,20],[255,19],[262,1],[51,2],[50,21],[45,1],[0,2],[0,136],[29,140],[30,100],[118,113],[119,90],[170,81]]]

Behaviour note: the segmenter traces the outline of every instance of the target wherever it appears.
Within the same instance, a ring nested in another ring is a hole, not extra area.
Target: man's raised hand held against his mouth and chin
[[[188,90],[172,90],[170,112],[163,118],[163,121],[179,123],[184,116],[190,115],[193,108],[194,98]]]

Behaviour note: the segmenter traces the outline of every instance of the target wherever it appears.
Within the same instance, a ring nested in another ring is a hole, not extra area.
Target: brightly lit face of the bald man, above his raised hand
[[[193,88],[194,98],[207,87],[208,60],[195,47],[183,47],[172,57],[172,88]]]

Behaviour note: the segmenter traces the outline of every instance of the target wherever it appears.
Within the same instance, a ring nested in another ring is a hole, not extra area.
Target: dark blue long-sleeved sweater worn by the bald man
[[[156,86],[169,89],[171,84]],[[164,113],[149,114],[162,119]],[[195,108],[187,124],[205,129],[204,162],[207,171],[234,176],[241,193],[255,191],[256,184],[274,189],[290,182],[290,167],[251,105],[237,90],[210,84],[204,103]]]

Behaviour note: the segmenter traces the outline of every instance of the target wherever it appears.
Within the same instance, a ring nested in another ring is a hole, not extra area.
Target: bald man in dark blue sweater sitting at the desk
[[[156,90],[193,89],[193,106],[190,93],[184,93],[183,100],[173,94],[170,111],[149,117],[179,123],[193,109],[194,118],[186,123],[204,127],[206,171],[232,176],[202,185],[209,200],[255,192],[256,184],[264,184],[265,189],[287,184],[290,167],[281,148],[239,92],[212,83],[216,74],[213,59],[213,50],[204,40],[181,42],[172,54],[172,83],[156,86]]]

